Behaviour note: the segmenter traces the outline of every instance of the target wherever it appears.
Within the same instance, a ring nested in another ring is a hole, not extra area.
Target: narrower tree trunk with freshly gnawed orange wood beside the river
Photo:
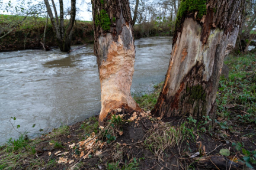
[[[128,0],[93,0],[94,54],[101,82],[100,125],[125,110],[139,110],[130,94],[135,64],[132,16]],[[110,113],[110,115],[108,115]]]

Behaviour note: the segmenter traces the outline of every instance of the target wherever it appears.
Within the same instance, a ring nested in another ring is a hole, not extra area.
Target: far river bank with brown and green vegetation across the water
[[[10,15],[0,15],[0,24],[8,25],[8,21],[14,18]],[[65,20],[65,24],[68,24],[68,21]],[[0,39],[0,52],[42,49],[43,47],[40,42],[43,42],[45,26],[46,18],[28,17],[20,27],[15,28],[7,37]],[[72,45],[93,44],[94,32],[92,27],[91,21],[76,21],[73,28]],[[145,37],[165,37],[169,35],[171,34],[168,28],[158,28],[153,22],[150,25],[142,24],[135,25],[134,27],[135,40]],[[46,26],[45,37],[46,45],[49,47],[58,46],[50,21],[48,21]]]

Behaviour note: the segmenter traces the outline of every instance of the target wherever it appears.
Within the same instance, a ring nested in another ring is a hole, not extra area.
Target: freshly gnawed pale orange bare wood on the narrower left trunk
[[[104,45],[105,38],[112,38],[111,34],[100,37],[100,45]],[[135,64],[134,44],[130,48],[124,47],[120,38],[117,42],[112,41],[108,47],[107,60],[100,66],[101,81],[101,112],[100,122],[104,122],[105,117],[112,110],[126,109],[136,110],[137,105],[130,94],[132,86],[132,76]]]

